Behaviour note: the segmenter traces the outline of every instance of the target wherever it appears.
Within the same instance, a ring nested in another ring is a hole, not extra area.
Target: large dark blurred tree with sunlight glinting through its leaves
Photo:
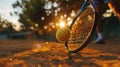
[[[81,3],[81,0],[21,0],[14,3],[13,7],[22,8],[19,21],[25,27],[29,29],[38,24],[38,29],[43,29],[50,22],[57,22],[63,14],[68,17],[72,10],[78,10]]]

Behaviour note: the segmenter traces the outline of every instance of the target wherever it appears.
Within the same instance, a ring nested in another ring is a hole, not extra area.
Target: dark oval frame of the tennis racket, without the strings
[[[75,23],[75,21],[77,20],[77,18],[80,16],[80,14],[82,13],[82,11],[86,8],[86,6],[90,6],[90,7],[92,7],[93,9],[94,9],[94,6],[90,3],[89,5],[88,5],[88,2],[87,2],[88,0],[85,0],[84,1],[84,3],[83,3],[83,5],[81,6],[81,8],[80,8],[80,10],[78,11],[78,13],[77,13],[77,15],[75,16],[75,18],[73,19],[73,21],[72,21],[72,24],[70,25],[70,30],[71,30],[71,28],[72,28],[72,26],[73,26],[73,24]],[[94,21],[94,24],[93,24],[93,27],[92,27],[92,29],[91,29],[91,33],[89,34],[89,36],[87,37],[87,39],[82,43],[82,45],[80,46],[80,47],[78,47],[77,49],[75,49],[75,50],[69,50],[69,48],[68,48],[68,41],[66,41],[65,42],[65,48],[68,50],[68,52],[70,52],[70,53],[76,53],[76,52],[78,52],[78,51],[80,51],[80,50],[82,50],[83,48],[85,48],[88,44],[89,44],[89,41],[90,41],[90,39],[92,38],[92,36],[94,35],[94,32],[95,32],[95,30],[96,30],[96,26],[97,26],[97,22],[96,22],[96,11],[95,11],[95,9],[94,9],[94,13],[95,13],[95,21]]]

